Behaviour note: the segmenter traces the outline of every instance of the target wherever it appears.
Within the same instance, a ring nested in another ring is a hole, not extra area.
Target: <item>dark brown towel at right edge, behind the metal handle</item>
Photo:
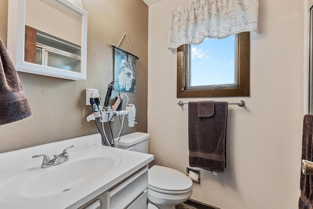
[[[302,156],[301,159],[313,161],[313,115],[305,115],[303,118],[302,132]],[[299,168],[300,168],[299,161]],[[313,208],[313,176],[300,172],[299,209]]]

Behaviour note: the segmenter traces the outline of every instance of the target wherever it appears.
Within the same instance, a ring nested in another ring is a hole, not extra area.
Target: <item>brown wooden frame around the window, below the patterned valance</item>
[[[250,95],[250,33],[238,34],[237,47],[237,88],[232,89],[202,89],[185,90],[186,62],[185,45],[177,48],[177,98],[186,97],[229,97]]]

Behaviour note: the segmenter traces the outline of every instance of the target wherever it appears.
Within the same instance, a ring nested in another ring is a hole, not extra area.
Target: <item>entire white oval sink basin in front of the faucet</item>
[[[108,175],[119,163],[118,157],[93,157],[48,168],[32,168],[0,186],[0,197],[13,201],[17,197],[22,200],[64,193]]]

